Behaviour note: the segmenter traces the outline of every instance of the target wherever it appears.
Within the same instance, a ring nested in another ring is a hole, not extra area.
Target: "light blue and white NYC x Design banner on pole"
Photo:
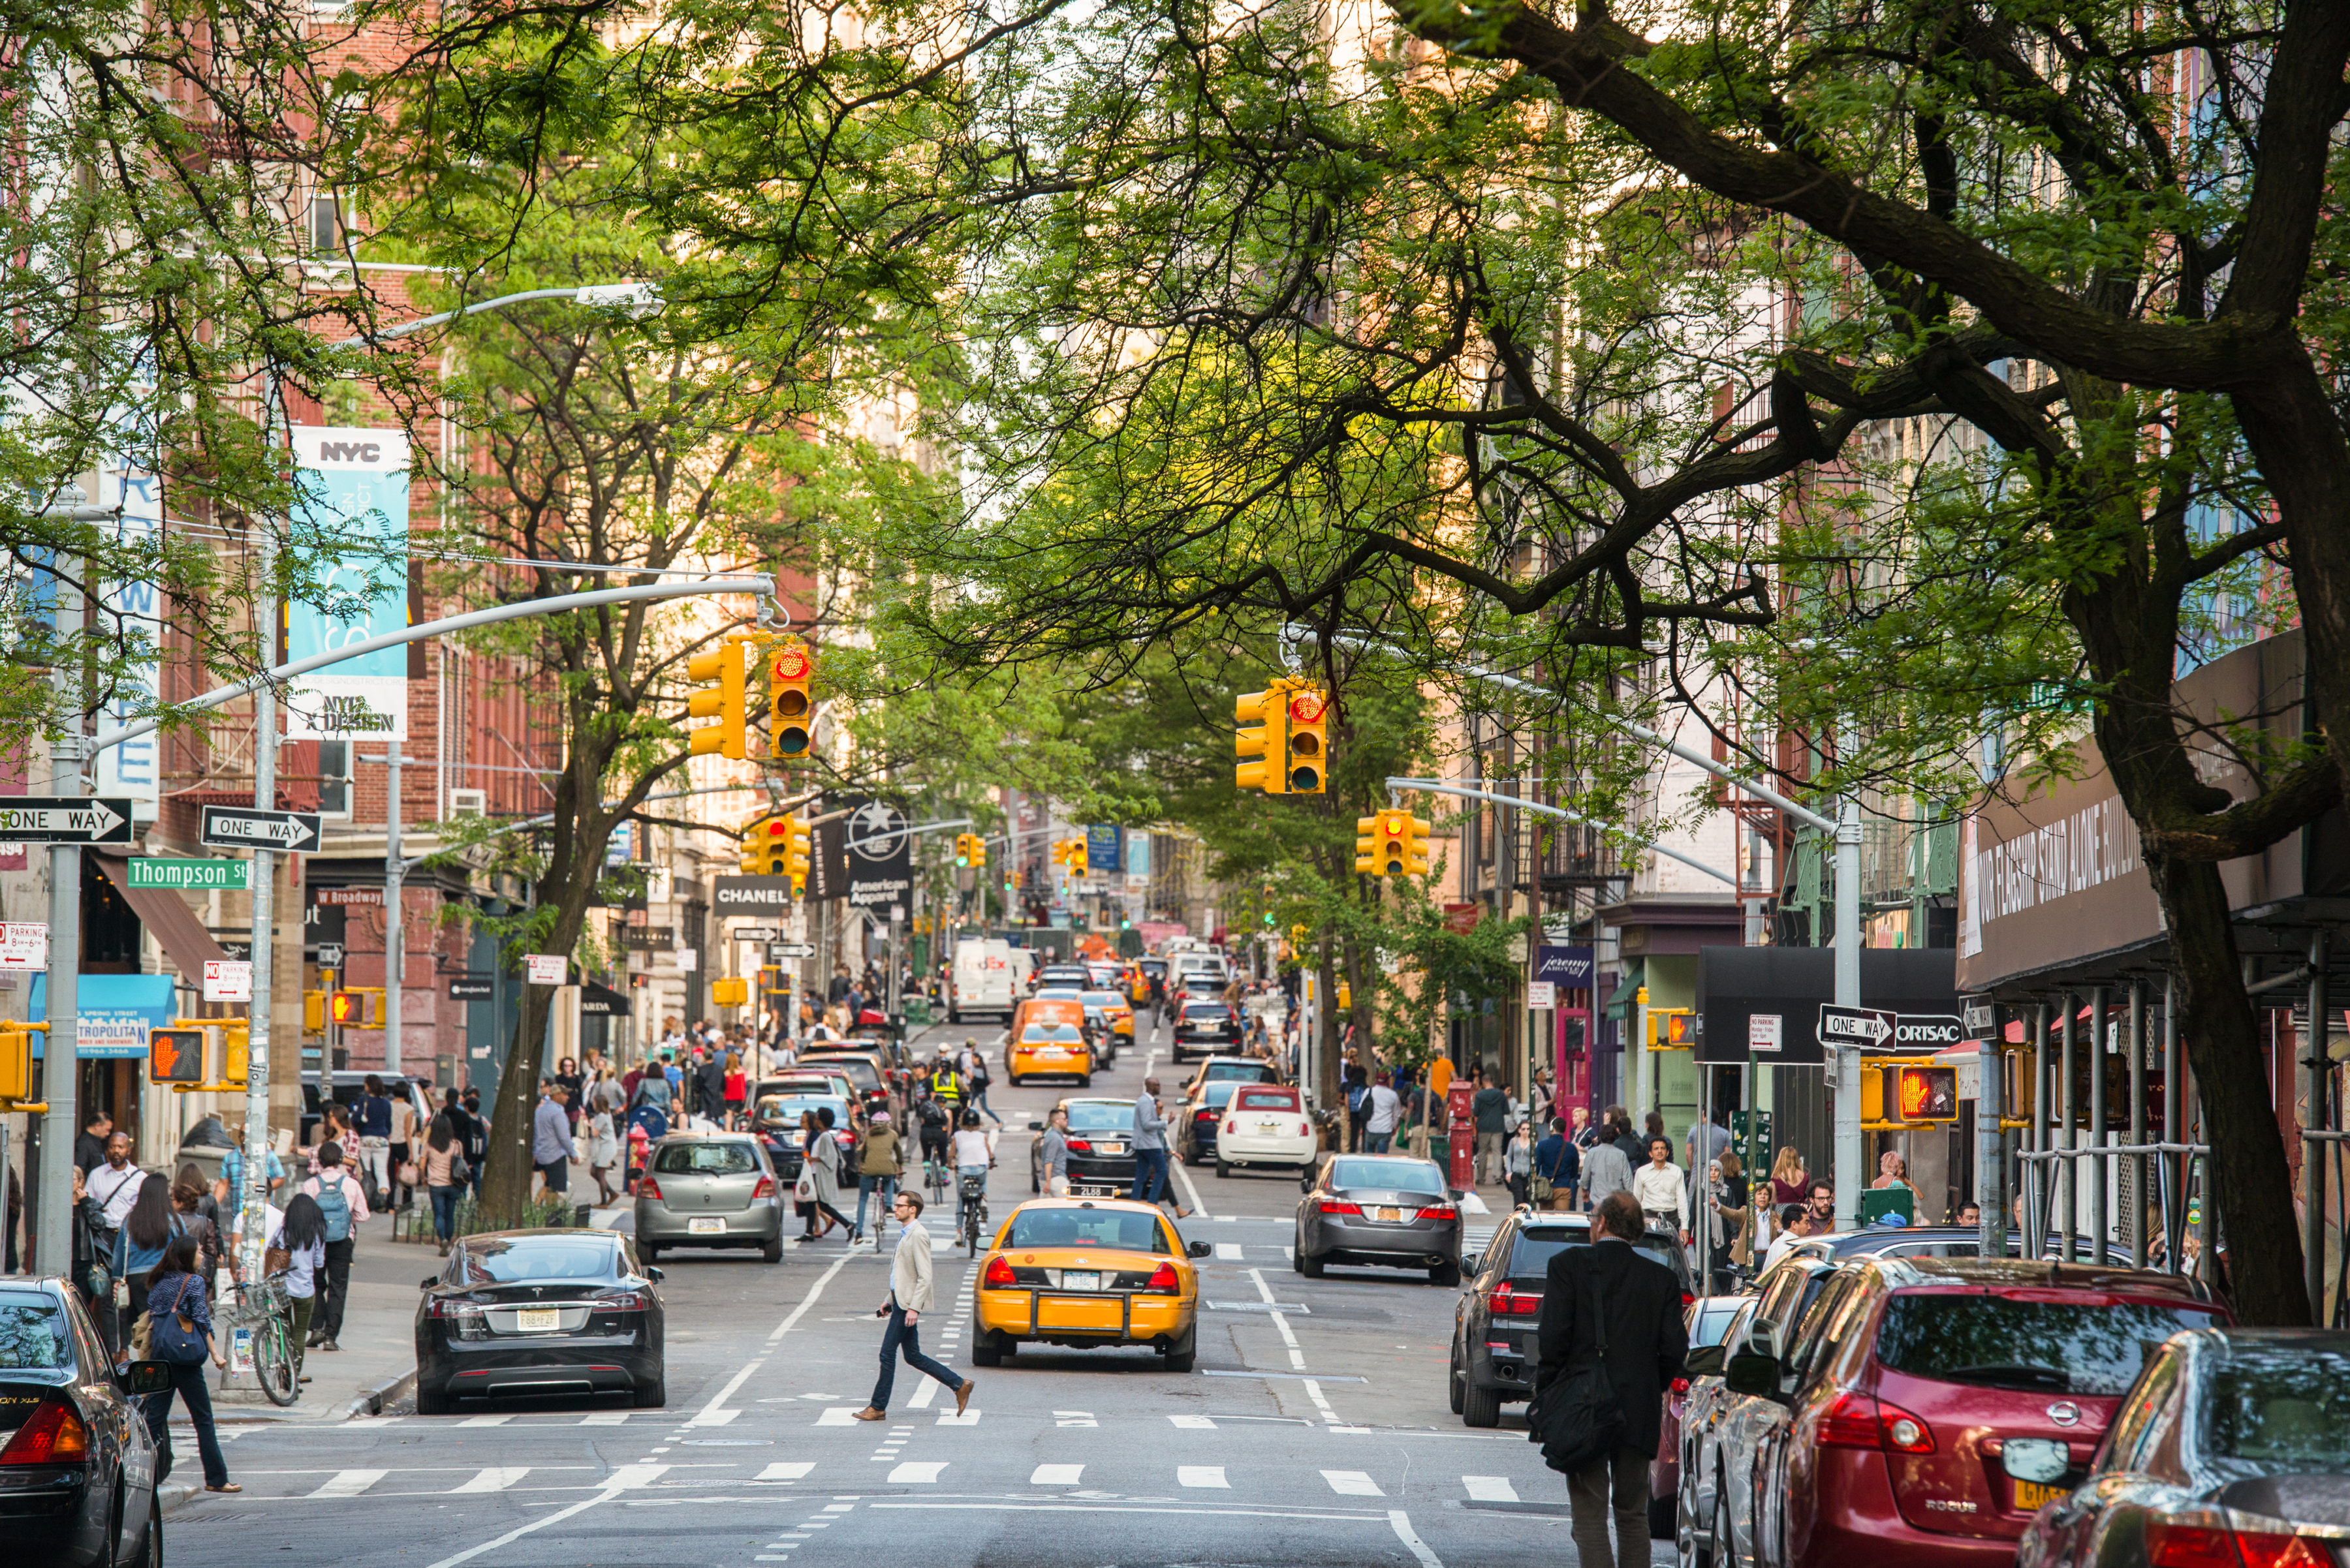
[[[409,439],[397,430],[296,425],[294,462],[317,495],[303,523],[329,538],[350,538],[364,554],[336,559],[320,575],[345,599],[348,617],[322,615],[308,603],[287,606],[287,660],[308,660],[364,643],[409,624]],[[409,735],[409,650],[381,648],[343,664],[313,669],[289,683],[287,739]]]

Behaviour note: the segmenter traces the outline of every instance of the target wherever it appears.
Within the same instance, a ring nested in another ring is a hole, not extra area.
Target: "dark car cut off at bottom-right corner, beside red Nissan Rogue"
[[[2019,1568],[2319,1568],[2350,1547],[2350,1333],[2197,1329],[2146,1357],[2089,1474],[2070,1444],[2009,1439],[2019,1493],[2073,1486],[2023,1528]]]

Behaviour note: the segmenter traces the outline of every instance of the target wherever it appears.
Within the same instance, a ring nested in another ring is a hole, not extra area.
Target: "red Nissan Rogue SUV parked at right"
[[[1795,1345],[1730,1357],[1730,1387],[1777,1399],[1786,1418],[1755,1446],[1748,1530],[1711,1530],[1706,1556],[1713,1568],[2012,1563],[2040,1505],[2070,1495],[2146,1354],[2225,1322],[2176,1275],[2021,1258],[1847,1265]],[[2061,1448],[2066,1469],[2009,1476],[2007,1444]]]

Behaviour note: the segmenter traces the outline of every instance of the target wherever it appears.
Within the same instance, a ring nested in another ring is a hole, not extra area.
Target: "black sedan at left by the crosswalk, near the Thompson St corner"
[[[667,1404],[658,1268],[609,1230],[461,1239],[416,1303],[416,1413],[472,1394],[618,1394]]]

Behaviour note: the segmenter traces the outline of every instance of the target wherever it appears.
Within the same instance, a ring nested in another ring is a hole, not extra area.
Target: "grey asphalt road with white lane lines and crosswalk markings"
[[[916,1045],[959,1040],[926,1030]],[[992,1030],[980,1026],[982,1042]],[[1095,1077],[1135,1091],[1144,1047]],[[1161,1075],[1173,1094],[1173,1066]],[[1027,1122],[1062,1089],[989,1094],[1006,1136],[992,1214],[1029,1197]],[[329,1427],[244,1427],[237,1498],[167,1523],[176,1566],[747,1568],[1572,1561],[1565,1488],[1511,1413],[1469,1432],[1445,1406],[1455,1291],[1424,1275],[1290,1268],[1297,1183],[1184,1171],[1198,1209],[1198,1371],[1147,1350],[1029,1350],[978,1371],[971,1411],[898,1368],[872,1392],[888,1251],[839,1242],[663,1258],[670,1408],[505,1401]],[[1196,1195],[1196,1197],[1194,1197]],[[1490,1228],[1490,1221],[1483,1221]],[[952,1230],[952,1216],[933,1235]],[[1471,1239],[1480,1221],[1471,1221]],[[971,1265],[938,1256],[924,1347],[968,1368]],[[1276,1310],[1278,1307],[1278,1310]],[[193,1455],[186,1455],[193,1462]],[[1668,1542],[1654,1542],[1671,1561]]]

